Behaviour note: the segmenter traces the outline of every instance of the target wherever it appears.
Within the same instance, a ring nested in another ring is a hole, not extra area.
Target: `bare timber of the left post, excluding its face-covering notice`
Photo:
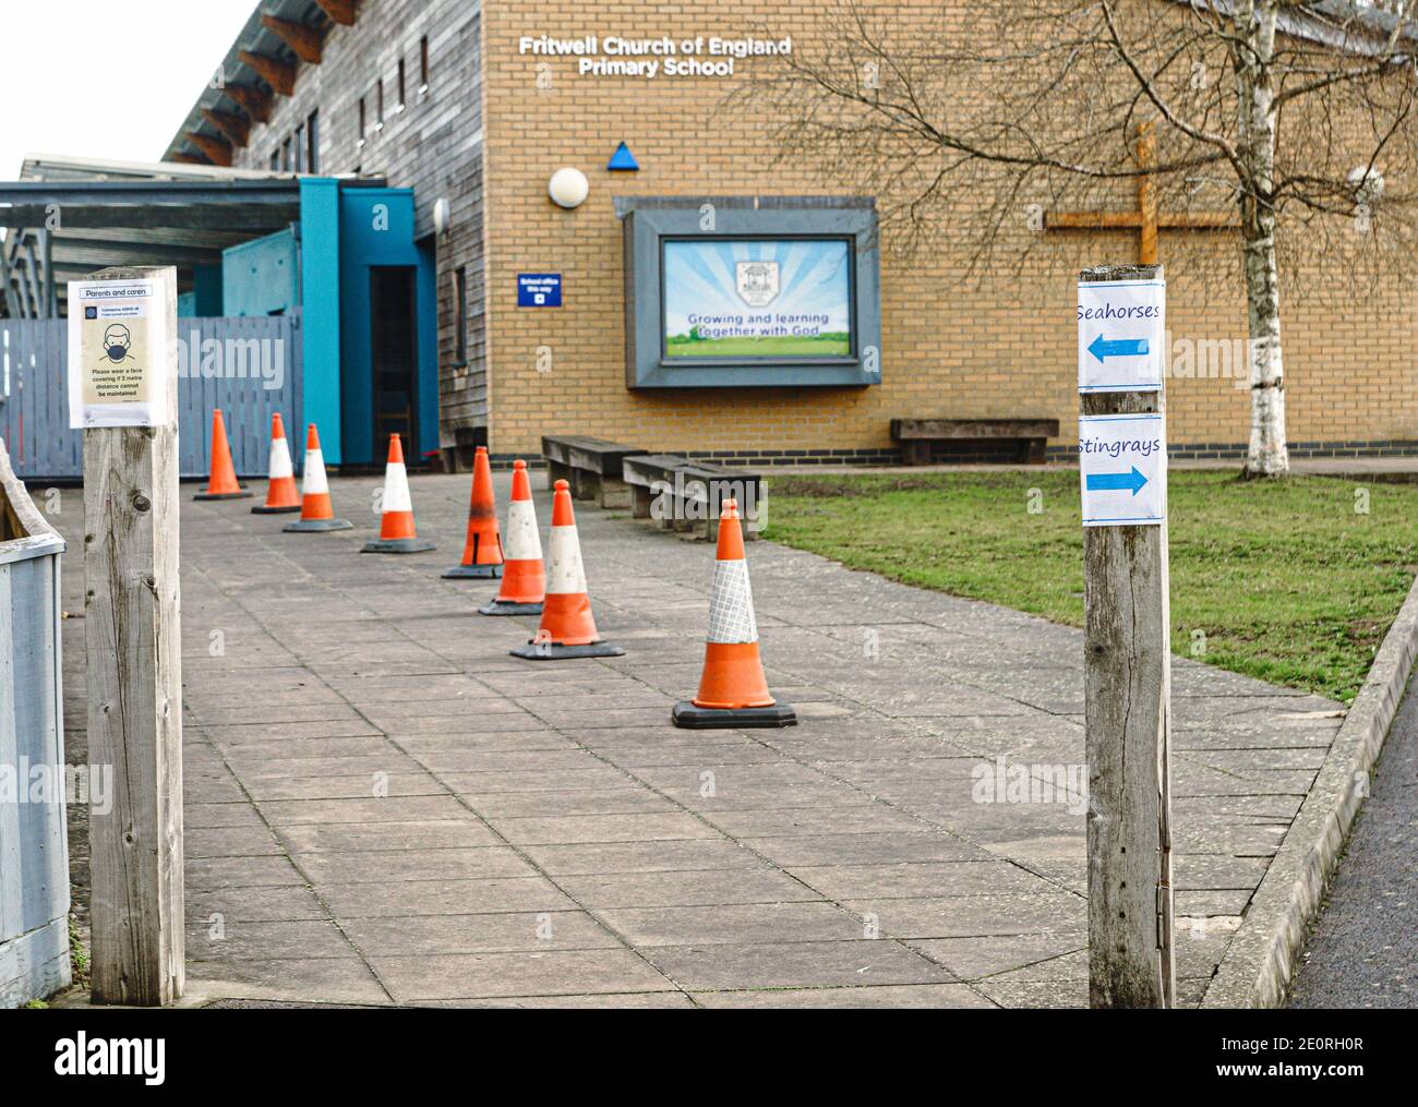
[[[89,279],[167,286],[169,425],[84,431],[89,761],[113,767],[112,808],[89,819],[92,996],[156,1006],[184,984],[177,272]]]

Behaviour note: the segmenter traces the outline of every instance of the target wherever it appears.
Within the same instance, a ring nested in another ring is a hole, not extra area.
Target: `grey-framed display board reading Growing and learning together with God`
[[[875,203],[615,197],[628,388],[882,383]]]

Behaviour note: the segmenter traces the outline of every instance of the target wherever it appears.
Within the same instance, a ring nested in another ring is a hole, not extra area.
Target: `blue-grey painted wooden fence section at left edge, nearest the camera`
[[[0,1008],[69,982],[61,553],[0,442]]]

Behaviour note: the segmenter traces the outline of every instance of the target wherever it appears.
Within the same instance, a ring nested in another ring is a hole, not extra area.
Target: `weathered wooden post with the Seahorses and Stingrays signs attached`
[[[1176,970],[1161,266],[1081,272],[1078,333],[1089,1004],[1170,1008]]]

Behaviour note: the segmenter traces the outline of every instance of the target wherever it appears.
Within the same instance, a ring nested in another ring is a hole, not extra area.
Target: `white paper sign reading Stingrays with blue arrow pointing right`
[[[1167,428],[1161,415],[1079,415],[1083,526],[1147,526],[1167,517]]]

